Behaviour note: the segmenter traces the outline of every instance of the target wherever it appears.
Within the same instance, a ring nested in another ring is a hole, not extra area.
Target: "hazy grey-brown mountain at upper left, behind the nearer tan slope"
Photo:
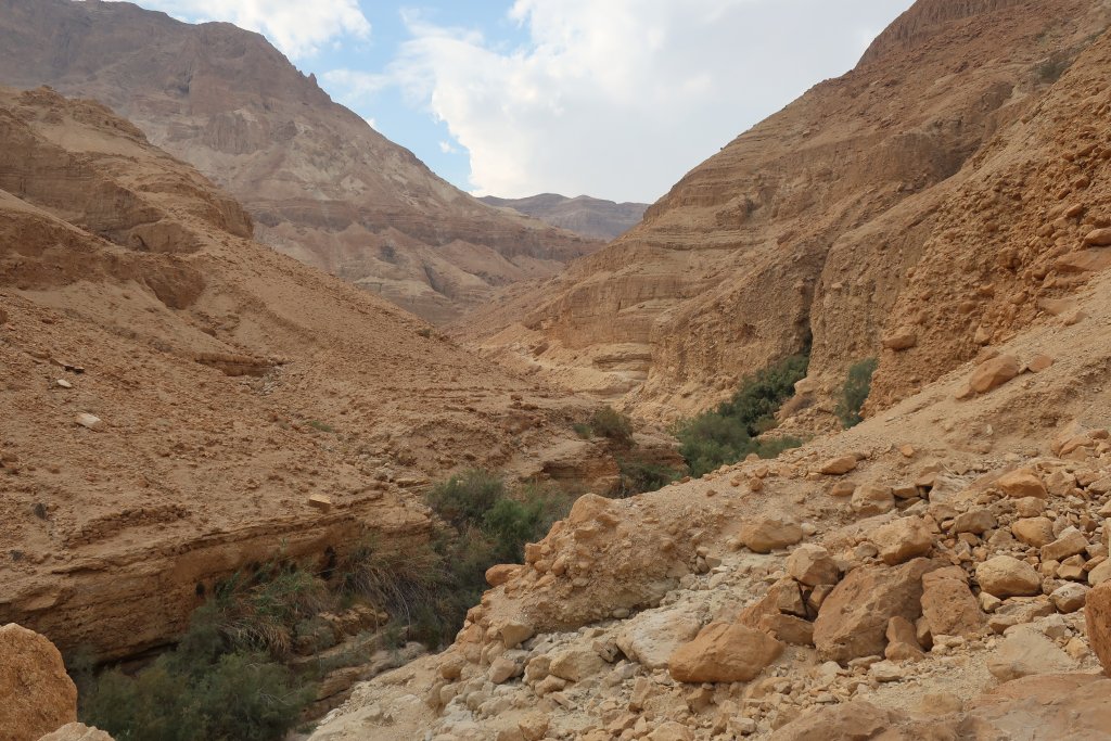
[[[107,103],[237,197],[261,242],[432,321],[598,247],[451,187],[227,23],[0,0],[0,84]]]

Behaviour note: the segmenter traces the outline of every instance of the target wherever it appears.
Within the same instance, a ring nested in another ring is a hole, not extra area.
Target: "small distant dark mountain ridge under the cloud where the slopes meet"
[[[640,223],[648,209],[648,203],[614,203],[590,196],[568,198],[556,193],[541,193],[531,198],[487,196],[479,200],[497,208],[512,209],[583,237],[605,241],[617,239]]]

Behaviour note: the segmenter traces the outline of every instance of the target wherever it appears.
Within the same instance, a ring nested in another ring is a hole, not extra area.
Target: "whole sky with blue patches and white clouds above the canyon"
[[[263,33],[477,196],[653,202],[912,0],[138,0]]]

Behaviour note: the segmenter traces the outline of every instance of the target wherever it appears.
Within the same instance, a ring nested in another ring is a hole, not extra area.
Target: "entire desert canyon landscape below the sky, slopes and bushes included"
[[[0,741],[1111,739],[1109,29],[918,0],[644,210],[0,0]]]

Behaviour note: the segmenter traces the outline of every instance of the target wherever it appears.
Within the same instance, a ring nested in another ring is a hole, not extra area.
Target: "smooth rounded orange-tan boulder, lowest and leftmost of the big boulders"
[[[668,660],[679,682],[748,682],[783,651],[783,644],[739,623],[710,623]]]

